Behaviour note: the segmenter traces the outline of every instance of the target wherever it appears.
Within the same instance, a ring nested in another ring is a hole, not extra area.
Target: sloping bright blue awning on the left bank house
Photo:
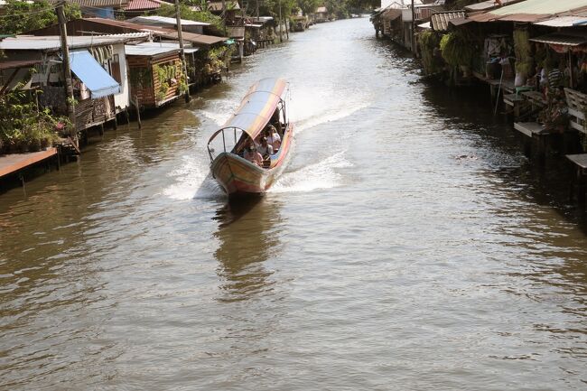
[[[120,84],[89,54],[89,51],[70,52],[71,70],[88,87],[92,99],[116,95]]]

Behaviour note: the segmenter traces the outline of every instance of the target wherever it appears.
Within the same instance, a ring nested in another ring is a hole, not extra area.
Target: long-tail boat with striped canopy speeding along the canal
[[[248,89],[240,106],[208,142],[210,171],[229,197],[263,194],[283,171],[293,137],[285,107],[288,85],[284,79],[261,79]],[[269,126],[281,144],[274,154],[255,163],[245,158],[246,146],[256,145]]]

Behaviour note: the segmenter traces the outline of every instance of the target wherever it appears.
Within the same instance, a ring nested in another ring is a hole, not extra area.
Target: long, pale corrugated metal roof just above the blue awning
[[[70,49],[88,48],[90,46],[112,45],[116,43],[125,43],[132,41],[131,38],[110,35],[102,36],[69,36],[68,45]],[[37,36],[17,36],[15,38],[6,38],[0,42],[0,50],[10,51],[58,51],[61,50],[61,41],[59,36],[48,35],[43,37]]]

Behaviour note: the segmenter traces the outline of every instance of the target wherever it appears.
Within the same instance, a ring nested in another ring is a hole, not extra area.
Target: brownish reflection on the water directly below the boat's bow
[[[276,235],[281,203],[252,198],[232,200],[217,210],[219,222],[214,237],[219,247],[214,256],[219,261],[218,274],[226,293],[220,301],[247,300],[256,293],[271,289],[271,271],[264,262],[274,257],[281,246]]]

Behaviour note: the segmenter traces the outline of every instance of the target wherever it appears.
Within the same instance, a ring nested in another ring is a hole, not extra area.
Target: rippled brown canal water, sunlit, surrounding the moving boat
[[[366,18],[291,37],[0,195],[0,387],[585,389],[585,233],[489,91]],[[293,158],[228,204],[205,145],[268,76]]]

